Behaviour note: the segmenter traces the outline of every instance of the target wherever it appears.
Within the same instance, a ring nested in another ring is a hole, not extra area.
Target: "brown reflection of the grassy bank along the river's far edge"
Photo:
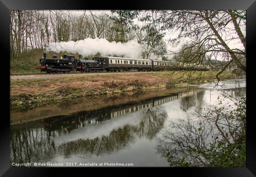
[[[191,88],[192,89],[192,88]],[[128,92],[127,94],[119,94],[111,97],[94,99],[93,101],[81,100],[78,103],[63,102],[61,105],[48,105],[44,107],[26,108],[10,110],[10,124],[23,124],[35,120],[52,116],[70,115],[74,112],[98,110],[104,107],[122,107],[129,103],[143,103],[145,100],[152,98],[160,98],[168,95],[177,95],[180,92],[188,92],[188,88],[172,88],[167,90],[145,90],[141,92]],[[176,98],[175,98],[176,99]]]

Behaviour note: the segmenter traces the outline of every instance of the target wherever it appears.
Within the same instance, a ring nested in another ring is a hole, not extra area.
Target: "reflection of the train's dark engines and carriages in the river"
[[[44,119],[45,128],[49,130],[63,129],[71,131],[84,127],[88,124],[101,124],[102,120],[117,118],[132,112],[147,110],[156,105],[162,105],[172,100],[192,96],[195,92],[200,92],[202,89],[189,90],[188,92],[180,92],[157,98],[144,100],[142,103],[125,103],[104,107],[98,110],[74,112],[66,116],[52,116]]]

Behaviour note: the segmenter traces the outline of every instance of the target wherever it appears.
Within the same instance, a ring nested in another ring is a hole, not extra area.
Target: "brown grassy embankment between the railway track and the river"
[[[10,107],[40,106],[81,98],[108,97],[128,91],[162,89],[181,85],[194,85],[216,80],[217,72],[170,71],[133,73],[95,73],[67,77],[12,79]],[[223,72],[221,79],[236,75]]]

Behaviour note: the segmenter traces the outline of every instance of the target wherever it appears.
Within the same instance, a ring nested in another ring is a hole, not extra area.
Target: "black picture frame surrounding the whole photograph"
[[[11,9],[241,9],[247,10],[247,158],[246,167],[234,168],[165,168],[170,170],[169,174],[179,174],[188,176],[232,176],[251,177],[256,176],[256,131],[254,129],[254,104],[253,92],[253,66],[254,46],[256,39],[256,2],[255,0],[163,0],[163,1],[135,1],[127,3],[117,3],[109,1],[88,1],[88,0],[1,0],[0,2],[0,35],[1,35],[1,98],[2,116],[0,129],[0,175],[2,176],[48,176],[53,175],[53,171],[67,173],[70,170],[84,171],[84,168],[13,168],[10,167],[10,146],[9,146],[9,94],[10,94],[10,66],[9,66],[9,10]],[[249,36],[249,37],[248,37]],[[109,169],[109,168],[104,168]],[[119,168],[124,169],[124,168]],[[97,169],[93,168],[93,170]],[[124,169],[132,174],[130,170]],[[149,170],[151,171],[152,168]],[[156,169],[154,169],[155,171]],[[79,174],[80,172],[78,172]],[[81,174],[81,173],[80,173]],[[122,174],[122,173],[121,173]]]

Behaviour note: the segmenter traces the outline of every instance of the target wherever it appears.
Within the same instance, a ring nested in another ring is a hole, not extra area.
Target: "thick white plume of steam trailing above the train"
[[[127,43],[109,42],[106,39],[86,38],[80,41],[51,42],[46,46],[46,51],[78,53],[83,57],[100,53],[102,57],[117,55],[129,58],[141,58],[143,49],[136,41]]]

